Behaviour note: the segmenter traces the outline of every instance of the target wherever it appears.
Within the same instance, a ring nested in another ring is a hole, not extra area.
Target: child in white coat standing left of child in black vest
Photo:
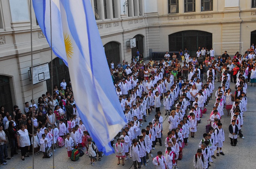
[[[219,156],[219,154],[224,155],[222,152],[222,146],[223,142],[225,141],[225,135],[224,135],[224,130],[222,129],[222,124],[218,123],[218,127],[215,128],[214,130],[215,133],[215,140],[217,142],[217,153],[216,155]],[[220,152],[219,152],[220,149]]]

